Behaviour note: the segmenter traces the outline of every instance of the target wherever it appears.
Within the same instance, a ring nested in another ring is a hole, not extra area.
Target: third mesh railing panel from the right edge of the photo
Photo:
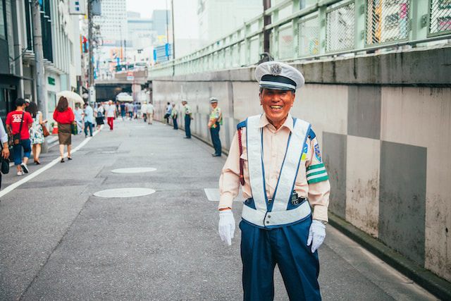
[[[354,48],[354,1],[342,1],[326,11],[326,52]]]

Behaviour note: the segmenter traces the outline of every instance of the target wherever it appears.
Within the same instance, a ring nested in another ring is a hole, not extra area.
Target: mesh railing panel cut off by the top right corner
[[[451,32],[451,0],[432,0],[429,16],[429,33]]]

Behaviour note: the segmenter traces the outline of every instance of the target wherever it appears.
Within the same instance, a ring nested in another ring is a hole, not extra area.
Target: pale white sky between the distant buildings
[[[173,2],[175,39],[198,39],[198,0],[173,0]],[[125,0],[125,3],[127,11],[141,13],[142,18],[152,18],[152,11],[155,9],[171,10],[171,0]]]

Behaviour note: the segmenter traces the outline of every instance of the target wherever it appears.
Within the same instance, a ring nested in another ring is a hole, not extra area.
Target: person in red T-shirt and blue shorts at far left
[[[20,123],[22,123],[22,127],[20,127]],[[32,124],[33,118],[30,113],[25,112],[25,100],[23,98],[16,99],[16,111],[9,112],[6,116],[6,130],[10,136],[18,134],[20,130],[20,140],[17,145],[13,146],[14,164],[18,176],[28,173],[27,162],[31,154],[29,130]]]

